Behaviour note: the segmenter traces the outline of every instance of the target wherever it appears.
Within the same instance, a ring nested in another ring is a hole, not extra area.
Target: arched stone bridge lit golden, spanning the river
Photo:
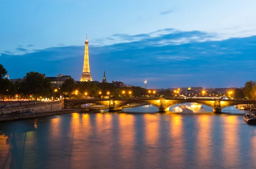
[[[86,103],[95,103],[105,106],[109,112],[120,111],[122,107],[130,103],[148,103],[156,106],[159,112],[168,112],[171,106],[179,103],[200,103],[209,106],[214,113],[221,113],[221,109],[237,104],[256,104],[256,100],[216,100],[216,99],[64,99],[63,108],[73,108]]]

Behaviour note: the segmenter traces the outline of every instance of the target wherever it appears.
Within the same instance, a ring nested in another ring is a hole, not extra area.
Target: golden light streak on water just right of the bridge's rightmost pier
[[[237,159],[239,159],[239,132],[238,125],[234,125],[238,123],[239,116],[227,116],[223,118],[223,160],[226,168],[236,166]]]

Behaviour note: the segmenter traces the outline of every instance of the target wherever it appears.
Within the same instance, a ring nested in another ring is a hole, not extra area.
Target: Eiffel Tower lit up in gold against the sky
[[[85,49],[84,49],[84,69],[81,76],[81,82],[87,82],[87,81],[93,81],[92,75],[90,74],[90,65],[89,65],[89,52],[88,52],[88,43],[87,40],[87,34],[86,34],[86,40],[85,43]]]

